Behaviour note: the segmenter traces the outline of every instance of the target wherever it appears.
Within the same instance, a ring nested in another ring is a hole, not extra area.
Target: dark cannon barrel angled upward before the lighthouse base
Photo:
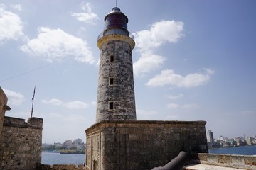
[[[155,167],[151,170],[180,170],[190,160],[188,153],[181,151],[177,157],[163,167]]]

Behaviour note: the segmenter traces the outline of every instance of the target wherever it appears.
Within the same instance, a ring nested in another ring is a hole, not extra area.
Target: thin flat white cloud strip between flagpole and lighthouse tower
[[[53,106],[64,106],[65,108],[70,109],[82,109],[82,108],[88,108],[89,105],[83,101],[69,101],[69,102],[63,102],[59,99],[52,98],[49,101],[48,100],[41,100],[43,104],[50,104]]]

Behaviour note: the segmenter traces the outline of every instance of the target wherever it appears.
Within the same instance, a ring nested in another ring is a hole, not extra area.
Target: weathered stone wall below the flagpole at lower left
[[[4,117],[0,139],[0,169],[31,170],[41,164],[43,119]]]

